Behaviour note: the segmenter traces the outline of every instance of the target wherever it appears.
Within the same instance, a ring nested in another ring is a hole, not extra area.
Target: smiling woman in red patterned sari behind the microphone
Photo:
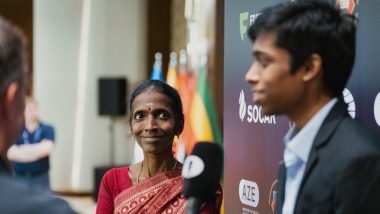
[[[184,126],[177,91],[162,81],[144,81],[133,91],[129,110],[144,160],[104,175],[96,213],[185,213],[182,164],[172,153],[174,137]],[[202,213],[219,213],[221,198],[218,191],[215,203],[203,206]]]

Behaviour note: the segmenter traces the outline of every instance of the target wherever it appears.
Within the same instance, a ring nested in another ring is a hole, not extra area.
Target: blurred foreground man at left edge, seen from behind
[[[7,150],[24,123],[24,37],[0,17],[0,213],[74,213],[47,191],[30,190],[12,178]]]

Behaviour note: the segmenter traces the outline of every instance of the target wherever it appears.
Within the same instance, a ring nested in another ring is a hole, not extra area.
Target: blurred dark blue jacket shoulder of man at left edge
[[[16,182],[0,157],[0,213],[66,214],[75,213],[62,199],[49,192],[34,191]]]

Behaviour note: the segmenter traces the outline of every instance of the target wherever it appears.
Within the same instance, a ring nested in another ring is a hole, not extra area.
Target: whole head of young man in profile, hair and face
[[[254,62],[246,74],[265,114],[294,109],[310,95],[341,95],[355,57],[355,20],[326,1],[265,9],[249,29]]]

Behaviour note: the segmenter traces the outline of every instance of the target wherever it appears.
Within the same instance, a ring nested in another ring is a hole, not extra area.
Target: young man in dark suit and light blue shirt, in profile
[[[294,122],[284,138],[276,213],[374,213],[380,137],[351,119],[341,93],[355,57],[355,20],[325,1],[268,8],[249,30],[246,74],[265,114]]]

